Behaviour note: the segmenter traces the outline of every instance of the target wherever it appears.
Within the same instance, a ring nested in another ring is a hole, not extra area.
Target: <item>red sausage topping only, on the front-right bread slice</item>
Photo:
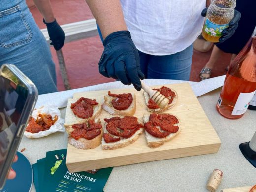
[[[179,130],[178,126],[174,126],[177,123],[179,120],[174,115],[153,113],[150,115],[149,121],[144,124],[144,128],[152,136],[164,138]]]

